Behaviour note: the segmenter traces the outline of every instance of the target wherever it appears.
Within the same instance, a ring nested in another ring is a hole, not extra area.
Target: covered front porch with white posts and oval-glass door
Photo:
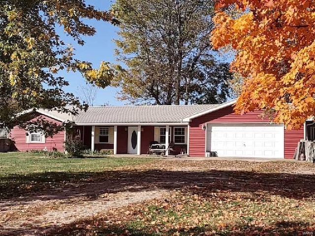
[[[116,154],[147,154],[150,142],[165,144],[178,154],[188,154],[189,125],[85,125],[77,133],[87,149],[113,149]],[[165,152],[168,155],[168,152]]]

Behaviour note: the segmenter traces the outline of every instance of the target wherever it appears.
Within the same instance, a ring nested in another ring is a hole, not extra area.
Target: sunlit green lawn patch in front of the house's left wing
[[[40,153],[0,153],[0,199],[60,183],[85,181],[102,172],[153,161],[150,158],[48,158]]]

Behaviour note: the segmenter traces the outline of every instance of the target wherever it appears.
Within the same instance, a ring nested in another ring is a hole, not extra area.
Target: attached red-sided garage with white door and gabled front
[[[271,123],[263,111],[236,114],[235,102],[184,119],[189,121],[190,156],[213,151],[219,157],[293,158],[297,143],[305,138],[303,125],[286,130],[283,124]]]

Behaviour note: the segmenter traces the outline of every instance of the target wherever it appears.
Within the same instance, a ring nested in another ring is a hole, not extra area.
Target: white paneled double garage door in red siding
[[[279,124],[208,124],[207,151],[221,157],[284,158],[284,126]]]

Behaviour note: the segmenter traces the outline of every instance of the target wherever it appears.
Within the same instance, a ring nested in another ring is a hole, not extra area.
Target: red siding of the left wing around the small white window
[[[41,114],[37,114],[35,118],[31,119],[31,121],[36,120],[38,117],[45,118],[47,121],[55,122],[57,124],[62,123]],[[13,129],[11,129],[10,137],[15,142],[14,146],[18,151],[42,150],[44,148],[47,148],[48,150],[53,150],[54,148],[60,151],[64,150],[64,131],[55,134],[53,138],[47,137],[45,143],[27,143],[26,131],[18,126],[14,126]]]

